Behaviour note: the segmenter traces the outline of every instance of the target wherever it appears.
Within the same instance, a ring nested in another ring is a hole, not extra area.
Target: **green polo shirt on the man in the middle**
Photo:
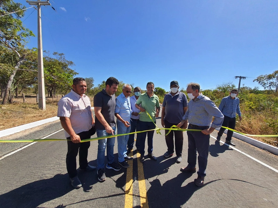
[[[136,101],[136,104],[141,104],[141,107],[144,108],[150,114],[152,120],[155,122],[156,108],[159,108],[159,99],[155,94],[153,94],[153,96],[151,97],[149,97],[147,93],[141,94],[138,100]],[[145,111],[140,113],[139,120],[145,122],[152,122],[152,120]]]

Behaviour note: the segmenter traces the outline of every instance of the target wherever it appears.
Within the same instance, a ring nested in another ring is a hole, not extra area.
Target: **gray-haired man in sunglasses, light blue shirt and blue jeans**
[[[129,95],[131,93],[131,86],[129,84],[123,85],[123,92],[116,98],[115,116],[117,118],[116,124],[118,134],[128,134],[130,132],[130,118],[131,118],[131,104]],[[126,145],[129,135],[117,136],[118,140],[118,162],[121,166],[128,168],[129,164],[126,160],[133,160],[133,157],[126,155]]]

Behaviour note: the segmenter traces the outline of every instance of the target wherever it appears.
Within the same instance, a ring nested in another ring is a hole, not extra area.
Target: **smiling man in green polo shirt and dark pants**
[[[153,93],[155,89],[155,85],[152,82],[147,83],[147,92],[143,93],[139,96],[138,100],[136,101],[136,108],[141,111],[140,118],[139,118],[139,127],[140,131],[155,129],[156,119],[159,114],[159,99]],[[140,106],[141,105],[141,106]],[[147,115],[148,112],[152,119]],[[156,157],[152,153],[152,138],[155,131],[145,131],[140,133],[140,161],[145,162],[144,154],[145,154],[145,141],[146,136],[148,135],[148,156],[152,160],[157,160]]]

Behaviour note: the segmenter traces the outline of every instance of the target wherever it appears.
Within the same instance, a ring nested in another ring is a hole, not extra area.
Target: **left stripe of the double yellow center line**
[[[133,153],[133,151],[131,152]],[[133,160],[129,163],[129,168],[126,170],[126,195],[125,208],[133,207]]]

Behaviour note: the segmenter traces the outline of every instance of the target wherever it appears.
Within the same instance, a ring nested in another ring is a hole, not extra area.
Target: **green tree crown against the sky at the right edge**
[[[273,93],[277,93],[278,90],[278,70],[272,74],[260,75],[253,82],[258,82],[264,89],[271,90]]]

